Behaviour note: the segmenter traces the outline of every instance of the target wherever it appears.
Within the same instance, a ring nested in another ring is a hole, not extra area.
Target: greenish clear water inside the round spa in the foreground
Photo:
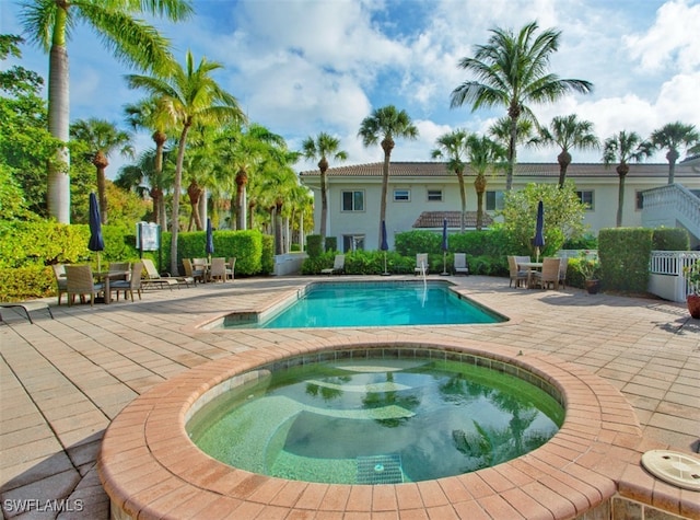
[[[419,482],[489,467],[549,440],[562,406],[517,377],[452,360],[342,359],[271,372],[187,424],[238,469],[336,484]]]

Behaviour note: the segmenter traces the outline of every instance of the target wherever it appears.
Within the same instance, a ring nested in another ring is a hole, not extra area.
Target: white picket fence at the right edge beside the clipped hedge
[[[682,269],[700,261],[700,251],[652,251],[649,292],[666,300],[686,301],[692,287]]]

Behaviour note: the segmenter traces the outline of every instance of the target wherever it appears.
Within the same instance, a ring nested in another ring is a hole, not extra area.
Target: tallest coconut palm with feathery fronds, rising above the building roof
[[[491,30],[489,42],[476,46],[474,58],[462,58],[458,63],[459,68],[472,72],[477,79],[465,81],[452,91],[452,107],[470,102],[472,111],[497,105],[508,108],[511,132],[505,189],[511,189],[513,185],[517,122],[521,117],[535,120],[527,105],[551,103],[568,92],[585,94],[593,89],[588,81],[561,79],[548,72],[549,59],[559,49],[561,32],[549,28],[535,36],[537,28],[537,22],[530,22],[517,35],[503,28]]]

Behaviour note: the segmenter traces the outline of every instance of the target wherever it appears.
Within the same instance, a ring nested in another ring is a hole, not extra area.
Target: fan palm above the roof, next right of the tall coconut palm
[[[575,114],[568,116],[556,116],[549,124],[549,128],[539,127],[539,142],[542,145],[556,145],[561,148],[561,153],[557,155],[559,162],[559,187],[564,187],[567,180],[567,169],[571,164],[570,150],[594,150],[600,147],[600,142],[593,134],[593,123],[580,120]]]

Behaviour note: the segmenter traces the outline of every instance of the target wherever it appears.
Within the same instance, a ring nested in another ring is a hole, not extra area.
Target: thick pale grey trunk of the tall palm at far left
[[[48,130],[56,139],[69,141],[69,79],[68,50],[65,42],[67,13],[57,10],[54,43],[48,71]],[[70,152],[63,146],[56,150],[48,164],[47,209],[49,217],[60,223],[70,223]]]

